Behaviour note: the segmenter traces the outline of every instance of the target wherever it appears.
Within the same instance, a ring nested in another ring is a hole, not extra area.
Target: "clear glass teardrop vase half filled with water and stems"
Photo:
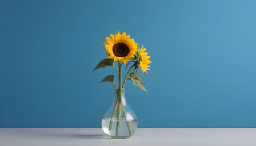
[[[137,116],[125,100],[125,89],[115,89],[114,102],[102,118],[102,130],[108,137],[127,138],[134,134],[137,125]]]

